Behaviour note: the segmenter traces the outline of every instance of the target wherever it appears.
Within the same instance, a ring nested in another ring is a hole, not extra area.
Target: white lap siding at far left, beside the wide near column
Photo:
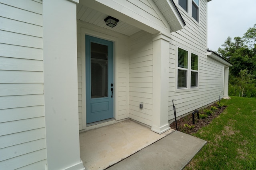
[[[46,164],[42,1],[0,0],[0,167]]]

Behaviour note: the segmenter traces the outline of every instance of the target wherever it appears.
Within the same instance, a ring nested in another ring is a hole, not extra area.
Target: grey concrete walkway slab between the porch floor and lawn
[[[107,170],[181,170],[206,141],[175,131]]]

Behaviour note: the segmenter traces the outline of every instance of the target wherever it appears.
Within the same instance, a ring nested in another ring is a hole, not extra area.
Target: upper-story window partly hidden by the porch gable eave
[[[178,4],[196,21],[199,21],[199,0],[178,0]]]

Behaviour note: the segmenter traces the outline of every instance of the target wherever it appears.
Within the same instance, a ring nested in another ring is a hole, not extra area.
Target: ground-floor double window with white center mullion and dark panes
[[[188,87],[198,87],[198,55],[178,48],[177,88],[187,89]]]

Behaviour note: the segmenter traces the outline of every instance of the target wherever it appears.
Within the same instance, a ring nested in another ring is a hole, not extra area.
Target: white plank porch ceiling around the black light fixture
[[[107,16],[108,16],[107,14],[104,14],[102,12],[89,8],[82,4],[78,4],[76,7],[76,18],[78,20],[91,23],[93,25],[97,25],[99,27],[103,27],[103,28],[106,28],[124,35],[128,35],[128,36],[141,30],[121,20],[119,20],[118,24],[115,27],[113,28],[109,27],[106,25],[104,21],[104,19]]]

